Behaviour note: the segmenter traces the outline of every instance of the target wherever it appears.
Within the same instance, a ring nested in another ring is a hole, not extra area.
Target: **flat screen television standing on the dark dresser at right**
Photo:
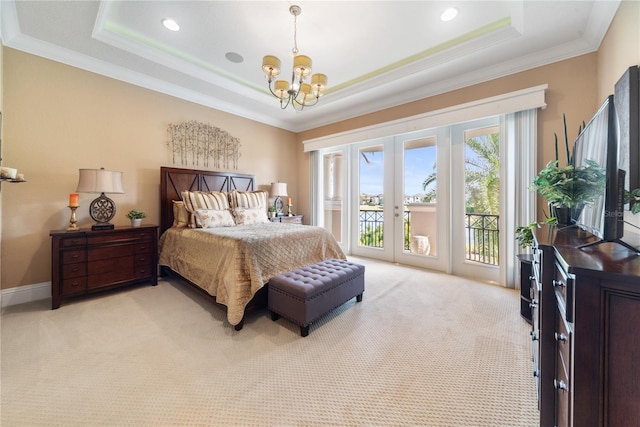
[[[624,183],[626,172],[618,168],[618,118],[613,95],[607,97],[574,145],[574,167],[595,162],[606,170],[606,182],[593,202],[585,204],[577,225],[597,236],[599,242],[618,242],[624,233]],[[585,245],[586,246],[590,246]]]

